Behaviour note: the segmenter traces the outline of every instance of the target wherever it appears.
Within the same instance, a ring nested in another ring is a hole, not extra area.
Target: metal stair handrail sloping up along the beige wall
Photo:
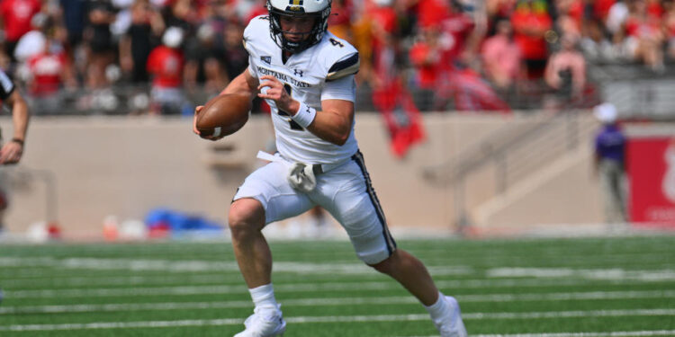
[[[504,126],[445,163],[426,168],[423,174],[429,182],[453,187],[453,225],[459,229],[471,225],[466,205],[466,185],[474,173],[486,167],[494,168],[491,197],[496,197],[551,164],[554,159],[577,150],[579,146],[589,146],[583,140],[590,136],[596,124],[583,118],[584,112],[588,111],[559,111],[543,114],[530,125]]]

